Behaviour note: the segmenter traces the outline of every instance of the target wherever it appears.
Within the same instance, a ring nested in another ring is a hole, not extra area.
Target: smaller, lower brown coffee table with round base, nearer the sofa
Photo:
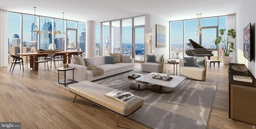
[[[138,77],[138,78],[141,78],[141,77],[144,76],[144,74],[138,74],[138,73],[134,73],[134,74],[140,75],[140,77]],[[122,76],[122,77],[118,78],[118,80],[123,80],[123,81],[126,81],[126,82],[132,82],[133,84],[130,85],[130,88],[132,90],[147,90],[148,89],[148,83],[147,82],[142,82],[142,81],[139,81],[139,80],[135,80],[135,78],[128,78],[128,75]]]

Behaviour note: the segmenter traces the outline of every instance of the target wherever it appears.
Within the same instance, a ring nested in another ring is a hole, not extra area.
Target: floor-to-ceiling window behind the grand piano
[[[197,27],[202,27],[202,33],[197,35]],[[193,20],[180,20],[170,22],[170,58],[186,57],[186,50],[192,49],[187,45],[188,39],[192,39],[202,47],[212,51],[214,54],[210,59],[220,60],[221,51],[214,44],[214,40],[218,36],[220,29],[226,28],[226,17],[212,17],[202,18],[200,21]]]

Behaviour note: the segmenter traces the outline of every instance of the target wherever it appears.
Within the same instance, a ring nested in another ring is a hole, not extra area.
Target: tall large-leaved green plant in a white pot
[[[215,39],[215,45],[220,45],[223,49],[224,55],[221,56],[222,62],[224,65],[229,65],[231,63],[233,57],[230,57],[230,53],[235,50],[234,43],[231,41],[231,39],[236,38],[236,31],[234,29],[229,29],[227,33],[227,39],[225,39],[224,33],[226,29],[220,29],[220,36]]]

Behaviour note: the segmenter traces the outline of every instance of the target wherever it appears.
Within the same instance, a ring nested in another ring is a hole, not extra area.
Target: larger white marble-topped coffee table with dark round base
[[[172,77],[171,80],[155,79],[155,78],[152,78],[153,74],[157,75],[160,73],[151,72],[149,74],[136,78],[135,80],[152,83],[153,85],[149,86],[149,89],[152,90],[153,92],[171,93],[174,87],[176,87],[178,84],[180,84],[180,82],[186,79],[185,77],[182,77],[182,76],[173,76],[173,75],[170,75],[170,77]],[[160,75],[166,76],[166,74],[160,74]]]

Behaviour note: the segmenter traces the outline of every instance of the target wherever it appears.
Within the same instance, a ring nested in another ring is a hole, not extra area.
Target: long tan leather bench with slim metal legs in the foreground
[[[124,104],[118,100],[104,96],[104,94],[112,92],[113,90],[115,89],[87,80],[68,86],[68,91],[75,94],[73,102],[75,101],[76,96],[80,96],[102,108],[116,113],[116,126],[118,127],[118,115],[128,118],[144,106],[144,99],[138,96],[138,98],[132,100],[130,103]]]

